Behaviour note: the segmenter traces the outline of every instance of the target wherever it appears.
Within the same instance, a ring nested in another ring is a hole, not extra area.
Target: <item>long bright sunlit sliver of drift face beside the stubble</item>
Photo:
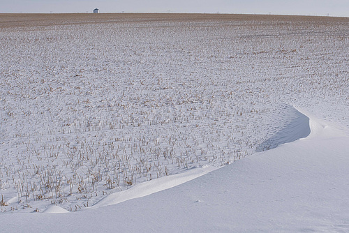
[[[109,206],[111,204],[118,204],[120,202],[125,202],[127,200],[131,200],[134,198],[151,195],[152,193],[157,193],[161,190],[172,188],[174,186],[180,185],[181,183],[191,181],[192,179],[198,178],[199,176],[207,174],[208,172],[211,172],[216,169],[217,167],[211,167],[211,166],[205,165],[203,167],[192,168],[188,170],[188,172],[184,172],[181,174],[164,176],[159,179],[154,179],[151,181],[140,183],[128,190],[124,190],[119,193],[112,193],[108,195],[107,197],[103,198],[101,201],[94,204],[94,206],[92,206],[91,209],[95,209],[101,206]]]

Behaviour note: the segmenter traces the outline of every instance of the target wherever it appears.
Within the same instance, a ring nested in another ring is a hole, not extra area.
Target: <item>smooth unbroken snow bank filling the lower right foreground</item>
[[[309,137],[179,186],[54,218],[3,215],[0,224],[6,232],[348,232],[349,132],[307,116]]]

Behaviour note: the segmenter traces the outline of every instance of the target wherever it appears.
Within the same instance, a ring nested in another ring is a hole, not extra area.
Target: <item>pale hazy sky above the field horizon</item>
[[[0,0],[0,13],[251,13],[349,17],[349,0]]]

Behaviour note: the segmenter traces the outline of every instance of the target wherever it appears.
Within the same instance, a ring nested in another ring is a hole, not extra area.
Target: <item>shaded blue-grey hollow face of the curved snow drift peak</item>
[[[265,142],[262,142],[257,146],[256,151],[265,151],[268,149],[274,149],[276,146],[285,144],[288,142],[294,142],[300,138],[307,137],[311,133],[309,126],[309,117],[299,112],[295,107],[292,107],[292,112],[295,117],[291,119],[290,123],[277,132],[275,135],[270,137]]]

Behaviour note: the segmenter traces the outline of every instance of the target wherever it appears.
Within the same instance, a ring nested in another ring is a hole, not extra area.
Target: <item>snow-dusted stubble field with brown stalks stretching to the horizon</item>
[[[1,213],[228,165],[296,140],[275,137],[295,107],[348,129],[348,38],[346,17],[0,14]]]

